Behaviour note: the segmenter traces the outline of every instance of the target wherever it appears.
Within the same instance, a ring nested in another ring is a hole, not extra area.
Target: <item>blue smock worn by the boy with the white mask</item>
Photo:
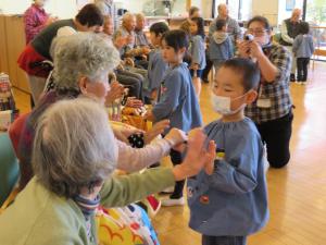
[[[225,150],[214,172],[188,179],[190,228],[212,236],[247,236],[268,220],[264,148],[254,123],[214,121],[209,140]]]

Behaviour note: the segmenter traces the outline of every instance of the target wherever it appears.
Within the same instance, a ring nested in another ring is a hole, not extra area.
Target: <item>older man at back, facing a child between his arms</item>
[[[239,38],[241,35],[241,29],[240,29],[238,22],[228,15],[228,7],[225,3],[221,3],[217,7],[217,11],[218,11],[218,15],[212,22],[212,24],[210,26],[209,36],[211,37],[213,35],[213,33],[216,30],[216,21],[218,19],[223,19],[226,21],[226,24],[227,24],[227,33],[235,44],[237,38]]]

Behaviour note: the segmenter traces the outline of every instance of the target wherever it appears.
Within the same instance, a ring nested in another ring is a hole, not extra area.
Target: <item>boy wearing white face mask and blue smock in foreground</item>
[[[188,179],[190,228],[203,245],[246,245],[268,220],[264,148],[244,107],[258,96],[260,71],[250,60],[231,59],[217,71],[212,106],[222,114],[204,127],[216,156]]]

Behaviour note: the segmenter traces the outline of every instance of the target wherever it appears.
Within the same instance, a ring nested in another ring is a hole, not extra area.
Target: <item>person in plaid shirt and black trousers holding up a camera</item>
[[[273,168],[283,168],[290,160],[292,101],[289,90],[291,53],[271,44],[272,28],[267,19],[255,16],[248,22],[248,34],[254,39],[239,42],[242,58],[254,59],[261,70],[259,98],[247,106],[246,115],[258,126],[266,144],[267,160]]]

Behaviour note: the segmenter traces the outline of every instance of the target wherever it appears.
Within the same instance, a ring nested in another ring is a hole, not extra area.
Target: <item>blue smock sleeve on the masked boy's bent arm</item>
[[[221,192],[244,194],[252,192],[258,184],[258,166],[262,160],[263,148],[259,137],[242,137],[235,142],[229,161],[215,160],[214,172],[206,176],[208,184]]]

